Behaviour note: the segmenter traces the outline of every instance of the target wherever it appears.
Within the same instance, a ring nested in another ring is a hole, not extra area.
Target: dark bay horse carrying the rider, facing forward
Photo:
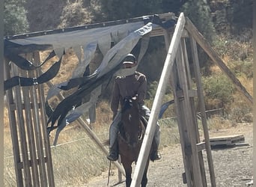
[[[118,147],[121,156],[121,163],[126,173],[126,186],[132,182],[132,162],[137,162],[138,153],[144,138],[145,126],[147,122],[141,120],[138,102],[136,97],[127,97],[124,99],[124,107],[121,111],[121,126],[118,134]],[[152,150],[152,149],[151,149]],[[151,152],[150,150],[150,152]],[[141,186],[147,186],[147,164],[141,180]]]

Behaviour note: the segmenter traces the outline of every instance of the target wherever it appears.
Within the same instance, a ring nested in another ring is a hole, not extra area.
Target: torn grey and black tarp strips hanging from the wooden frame
[[[49,115],[49,132],[58,128],[58,133],[64,126],[73,122],[85,111],[95,106],[97,97],[104,90],[103,83],[109,82],[112,76],[127,76],[136,68],[130,70],[121,69],[121,61],[132,51],[138,41],[141,41],[141,49],[138,54],[138,62],[141,61],[147,50],[149,34],[154,28],[171,28],[175,24],[174,19],[162,21],[158,16],[143,16],[136,19],[105,22],[100,24],[85,25],[75,28],[64,28],[54,31],[35,32],[12,37],[4,37],[4,56],[16,64],[22,70],[34,70],[40,67],[53,56],[57,55],[59,61],[53,64],[45,75],[39,78],[13,77],[4,81],[4,90],[13,86],[30,86],[40,84],[52,79],[58,73],[58,64],[61,64],[61,56],[65,50],[73,48],[79,63],[67,82],[53,85],[46,97],[46,113]],[[52,49],[52,53],[45,61],[34,66],[31,61],[25,59],[23,54],[35,51]],[[81,50],[82,49],[82,50]],[[89,64],[97,49],[103,54],[103,61],[93,73],[89,71]],[[83,55],[83,56],[82,56]],[[47,76],[49,75],[49,76]],[[47,78],[46,78],[47,76]],[[22,83],[22,80],[28,83]],[[56,108],[49,107],[48,100],[61,91],[76,88],[77,91],[63,99]],[[87,98],[88,102],[82,103]],[[90,111],[90,110],[89,110]],[[91,110],[93,111],[93,110]],[[58,120],[57,125],[55,122]],[[94,121],[94,119],[91,119]]]

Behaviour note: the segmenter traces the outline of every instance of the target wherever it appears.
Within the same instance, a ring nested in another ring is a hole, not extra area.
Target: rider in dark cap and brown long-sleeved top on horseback
[[[132,54],[128,54],[124,58],[124,68],[132,68],[136,66],[136,58]],[[113,111],[113,122],[109,128],[109,155],[107,158],[110,161],[115,161],[118,159],[118,123],[121,120],[121,113],[118,111],[119,102],[123,106],[123,99],[126,96],[138,95],[138,105],[141,110],[141,114],[148,120],[150,117],[150,109],[144,105],[144,97],[147,90],[147,79],[144,74],[135,71],[129,76],[117,76],[115,78],[115,85],[112,93],[111,109]],[[152,161],[161,159],[157,150],[159,147],[159,123],[156,123],[156,131],[154,133],[153,141],[156,143],[156,149],[150,155]]]

